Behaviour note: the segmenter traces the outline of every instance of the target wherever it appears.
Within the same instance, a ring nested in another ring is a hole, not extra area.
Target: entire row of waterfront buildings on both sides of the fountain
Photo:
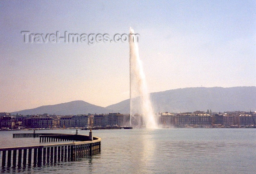
[[[207,114],[202,111],[193,113],[158,113],[158,124],[163,128],[186,126],[253,126],[256,124],[256,113],[232,112]],[[11,116],[10,113],[0,113],[0,128],[75,128],[75,127],[106,127],[106,126],[143,127],[142,115],[109,113],[95,115],[56,116],[49,114],[33,116]]]

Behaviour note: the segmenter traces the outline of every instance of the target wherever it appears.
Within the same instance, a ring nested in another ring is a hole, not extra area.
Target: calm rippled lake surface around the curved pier
[[[38,145],[39,138],[12,138],[0,131],[0,147]],[[71,133],[75,129],[36,133]],[[89,131],[79,131],[89,135]],[[101,153],[75,162],[2,173],[255,173],[256,129],[117,129],[94,130]],[[44,143],[45,144],[45,143]]]

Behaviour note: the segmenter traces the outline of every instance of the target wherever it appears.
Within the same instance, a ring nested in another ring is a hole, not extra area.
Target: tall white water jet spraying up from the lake
[[[157,119],[147,91],[146,77],[142,61],[139,57],[138,43],[134,41],[134,31],[130,27],[130,121],[132,117],[142,115],[142,120],[136,118],[138,125],[149,129],[158,128]]]

